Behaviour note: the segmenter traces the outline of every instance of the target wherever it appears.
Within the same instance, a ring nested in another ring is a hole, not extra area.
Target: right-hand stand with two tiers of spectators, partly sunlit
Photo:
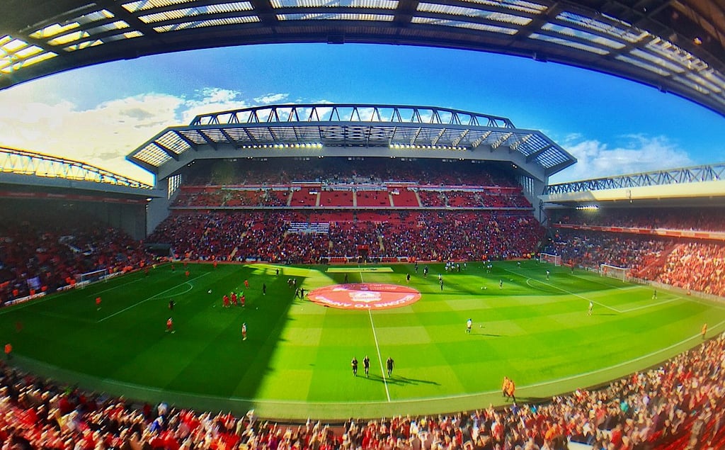
[[[724,214],[721,208],[566,210],[552,217],[556,233],[544,251],[579,266],[628,267],[634,278],[724,297],[725,244],[711,234],[722,231]]]

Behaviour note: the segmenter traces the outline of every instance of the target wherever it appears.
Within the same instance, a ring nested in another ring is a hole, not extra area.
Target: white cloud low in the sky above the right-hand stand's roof
[[[577,163],[552,176],[550,182],[562,183],[694,164],[687,152],[666,136],[631,134],[619,136],[619,140],[621,144],[610,147],[578,134],[567,136],[562,147],[577,159]]]

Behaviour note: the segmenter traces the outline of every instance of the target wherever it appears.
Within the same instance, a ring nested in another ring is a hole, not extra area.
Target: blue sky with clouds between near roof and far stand
[[[579,163],[552,182],[725,161],[725,118],[551,62],[372,44],[200,50],[85,67],[0,91],[0,145],[151,182],[124,160],[199,113],[289,102],[450,107],[544,131]]]

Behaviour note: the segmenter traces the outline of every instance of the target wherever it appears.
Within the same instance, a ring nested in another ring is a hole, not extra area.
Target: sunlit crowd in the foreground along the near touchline
[[[2,449],[225,450],[715,450],[725,446],[725,335],[660,367],[539,404],[434,416],[307,420],[279,425],[134,404],[86,393],[4,364]]]

